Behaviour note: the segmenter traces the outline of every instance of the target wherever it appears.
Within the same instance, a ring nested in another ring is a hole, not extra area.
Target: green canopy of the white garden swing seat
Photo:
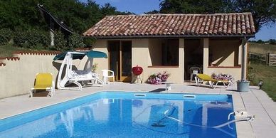
[[[66,51],[63,53],[60,53],[58,55],[55,55],[55,58],[53,60],[64,60],[65,55],[68,52],[73,52],[73,60],[75,59],[83,59],[85,55],[87,55],[88,58],[107,58],[107,54],[100,52],[100,51],[87,51],[87,52],[74,52],[74,51]]]

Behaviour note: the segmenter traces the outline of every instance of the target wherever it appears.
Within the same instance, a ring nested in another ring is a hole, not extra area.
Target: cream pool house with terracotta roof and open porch
[[[95,51],[108,54],[93,62],[99,70],[114,70],[117,81],[132,80],[131,69],[139,65],[143,81],[166,71],[176,83],[191,80],[192,67],[245,78],[248,38],[254,34],[251,13],[106,16],[83,33],[97,38]]]

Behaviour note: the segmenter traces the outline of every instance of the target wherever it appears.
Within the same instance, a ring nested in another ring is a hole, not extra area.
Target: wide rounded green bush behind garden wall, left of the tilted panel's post
[[[14,44],[23,48],[48,47],[50,45],[50,35],[45,31],[28,29],[27,31],[16,31]]]

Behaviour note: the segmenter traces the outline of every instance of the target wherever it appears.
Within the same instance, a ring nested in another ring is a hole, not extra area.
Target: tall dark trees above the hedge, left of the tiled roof
[[[120,12],[111,4],[100,7],[94,0],[13,0],[0,1],[0,28],[26,30],[39,28],[48,31],[48,26],[38,11],[43,6],[56,18],[63,21],[76,33],[83,33],[106,15],[133,14]]]

